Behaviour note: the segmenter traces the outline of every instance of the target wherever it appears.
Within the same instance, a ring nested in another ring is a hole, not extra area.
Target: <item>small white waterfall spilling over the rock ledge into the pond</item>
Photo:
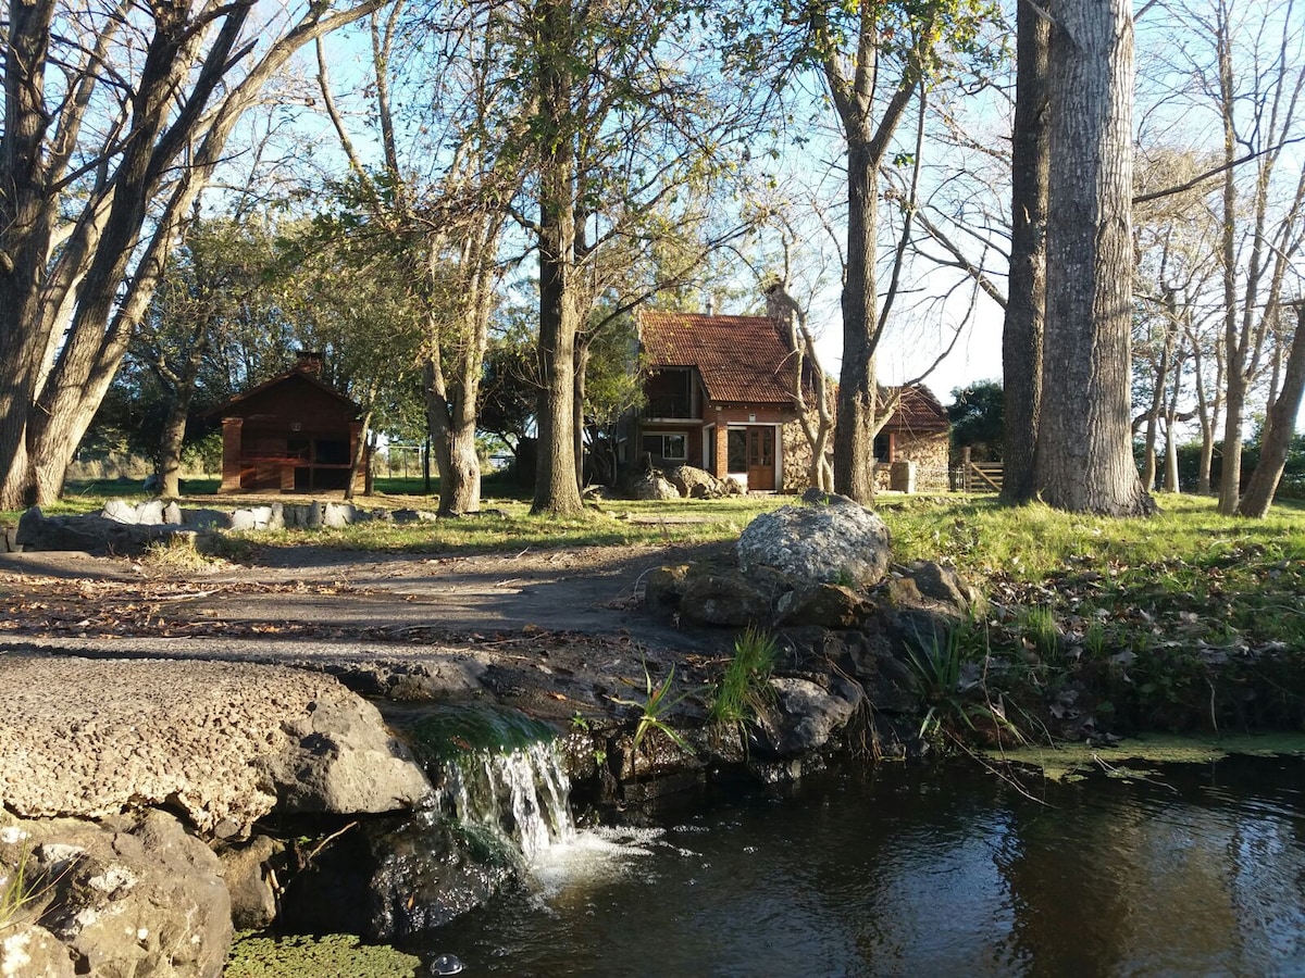
[[[526,865],[576,837],[570,782],[551,742],[478,750],[444,762],[441,802],[463,825],[517,849]]]

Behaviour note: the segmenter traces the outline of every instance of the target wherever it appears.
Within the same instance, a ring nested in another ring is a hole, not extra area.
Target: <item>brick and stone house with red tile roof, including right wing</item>
[[[637,323],[647,379],[636,459],[697,466],[749,492],[806,488],[810,449],[793,406],[797,360],[783,318],[641,310]],[[928,389],[906,391],[876,458],[915,460],[917,488],[947,488],[947,416]]]

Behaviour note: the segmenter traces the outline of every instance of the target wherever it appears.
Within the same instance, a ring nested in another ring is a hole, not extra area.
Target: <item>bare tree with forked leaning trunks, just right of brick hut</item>
[[[358,186],[356,203],[375,224],[410,280],[422,319],[420,370],[432,455],[440,475],[440,512],[480,509],[476,402],[497,283],[505,201],[519,186],[519,164],[501,151],[515,120],[500,112],[500,63],[506,21],[491,7],[450,0],[403,20],[395,3],[372,16],[372,94],[381,166],[368,168],[350,136],[318,47],[318,85]],[[412,52],[438,43],[427,64]],[[398,87],[407,82],[405,91]],[[410,103],[397,107],[395,98]],[[395,112],[422,111],[420,136],[401,140]],[[416,104],[414,104],[416,103]],[[433,172],[431,172],[433,171]],[[377,172],[378,176],[373,176]]]

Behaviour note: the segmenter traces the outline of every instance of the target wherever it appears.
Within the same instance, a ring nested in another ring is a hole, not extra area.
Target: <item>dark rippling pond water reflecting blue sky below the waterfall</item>
[[[467,975],[1305,975],[1305,760],[1021,797],[844,769],[582,832],[438,932]]]

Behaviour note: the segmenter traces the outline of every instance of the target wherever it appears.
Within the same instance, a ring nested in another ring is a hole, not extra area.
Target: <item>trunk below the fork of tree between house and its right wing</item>
[[[847,146],[847,274],[843,283],[843,366],[834,429],[834,489],[860,503],[874,501],[874,228],[878,180],[869,145]]]

